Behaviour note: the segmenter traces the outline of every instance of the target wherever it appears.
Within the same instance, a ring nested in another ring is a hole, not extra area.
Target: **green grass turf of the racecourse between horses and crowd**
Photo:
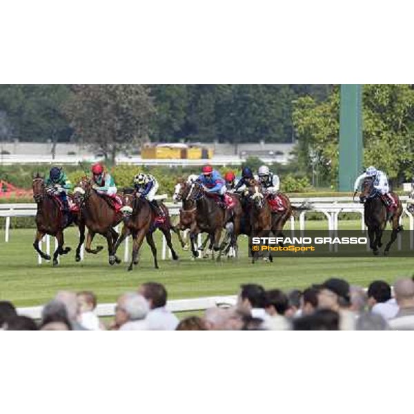
[[[359,221],[340,221],[339,228],[360,228]],[[307,228],[326,228],[326,221],[308,221]],[[157,281],[164,284],[170,299],[202,297],[211,295],[235,295],[240,284],[255,282],[265,288],[305,288],[310,284],[337,276],[351,284],[367,286],[373,279],[393,282],[396,277],[411,276],[414,272],[413,257],[367,257],[367,258],[278,258],[273,264],[257,262],[250,264],[247,257],[246,238],[242,238],[240,258],[223,259],[217,263],[210,259],[190,260],[190,253],[177,246],[178,262],[159,260],[160,269],[153,268],[149,247],[144,242],[139,266],[132,272],[126,264],[109,266],[106,250],[99,255],[86,255],[85,261],[75,263],[74,251],[61,257],[56,268],[48,262],[37,264],[37,254],[32,248],[33,229],[14,229],[10,242],[4,242],[4,230],[0,230],[0,299],[10,300],[17,306],[44,304],[57,290],[92,290],[100,303],[115,302],[128,290],[139,284]],[[97,236],[96,244],[103,244]],[[66,232],[66,244],[75,248],[77,230]],[[54,246],[54,243],[51,243]],[[161,257],[161,238],[157,236],[158,256]],[[44,249],[44,247],[43,247]],[[119,250],[124,257],[124,247]]]

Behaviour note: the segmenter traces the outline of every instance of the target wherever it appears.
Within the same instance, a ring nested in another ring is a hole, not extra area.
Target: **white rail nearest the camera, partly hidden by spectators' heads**
[[[172,299],[167,302],[167,309],[171,312],[194,312],[204,311],[215,306],[233,306],[237,302],[237,296],[210,296],[197,297],[195,299]],[[109,317],[115,315],[116,304],[98,304],[95,313],[99,317]],[[19,315],[41,319],[43,306],[30,306],[18,308]]]

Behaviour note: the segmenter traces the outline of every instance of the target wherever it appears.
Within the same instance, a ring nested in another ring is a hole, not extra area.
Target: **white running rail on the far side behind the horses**
[[[402,217],[406,215],[408,217],[410,232],[410,248],[414,249],[414,216],[406,209],[407,196],[400,197],[404,202],[404,211]],[[338,230],[339,215],[341,213],[359,213],[361,215],[361,230],[365,230],[364,224],[364,206],[359,203],[353,202],[352,197],[313,197],[312,199],[306,198],[292,198],[290,201],[297,205],[302,202],[310,202],[311,208],[309,210],[303,210],[299,213],[299,230],[306,229],[306,214],[308,213],[323,213],[328,220],[328,228],[331,231]],[[179,215],[179,206],[177,204],[166,203],[168,211],[171,216]],[[10,217],[34,217],[37,212],[36,204],[0,204],[0,217],[6,217],[6,232],[5,241],[9,242],[10,239]],[[295,230],[295,217],[290,217],[290,228]],[[119,231],[119,227],[117,228]],[[124,242],[124,262],[128,262],[129,259],[129,239],[126,238]],[[42,242],[46,242],[46,253],[50,254],[50,237],[46,235]],[[201,235],[199,235],[198,245],[201,245]],[[56,246],[56,241],[55,241]],[[397,248],[401,246],[401,237],[397,239]],[[81,259],[83,259],[83,247],[81,249]],[[161,259],[165,260],[167,256],[167,244],[166,239],[163,236],[163,244],[161,250]],[[41,257],[38,257],[38,262],[41,264]]]

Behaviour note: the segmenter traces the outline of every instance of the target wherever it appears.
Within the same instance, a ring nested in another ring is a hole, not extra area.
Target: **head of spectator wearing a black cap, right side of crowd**
[[[340,308],[349,308],[351,297],[349,295],[349,284],[344,279],[332,278],[318,286],[318,307],[339,311]]]

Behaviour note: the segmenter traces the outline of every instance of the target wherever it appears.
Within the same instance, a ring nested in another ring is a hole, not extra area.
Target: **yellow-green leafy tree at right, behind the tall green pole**
[[[414,168],[414,90],[410,85],[364,85],[364,164],[375,165],[391,179],[406,179]],[[299,163],[336,184],[338,174],[339,88],[326,101],[295,101],[293,123]]]

